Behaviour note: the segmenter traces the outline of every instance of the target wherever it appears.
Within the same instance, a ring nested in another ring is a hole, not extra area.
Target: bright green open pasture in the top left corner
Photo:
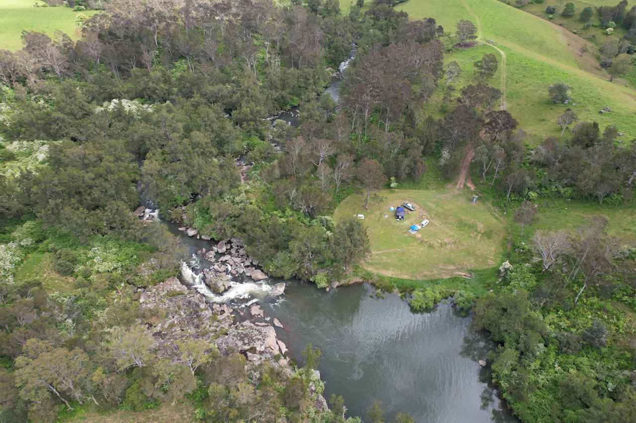
[[[53,37],[60,30],[69,37],[79,37],[79,26],[76,20],[79,13],[92,16],[97,11],[73,11],[65,6],[34,7],[45,5],[35,0],[2,0],[0,1],[0,49],[16,51],[22,48],[20,35],[22,31],[44,32]]]

